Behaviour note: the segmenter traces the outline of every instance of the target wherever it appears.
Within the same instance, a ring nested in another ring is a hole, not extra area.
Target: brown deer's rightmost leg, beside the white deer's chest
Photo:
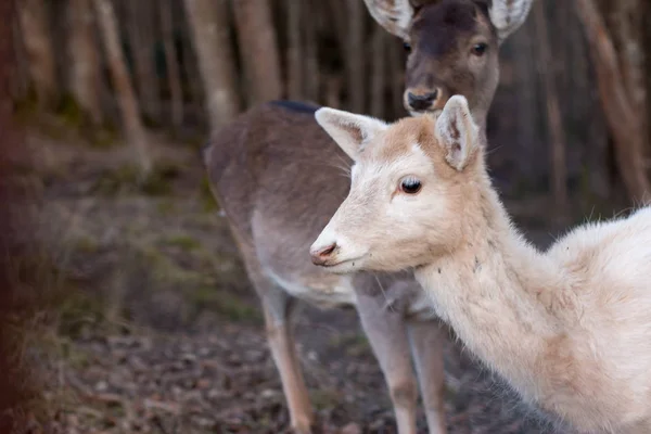
[[[430,433],[446,433],[443,365],[445,329],[436,321],[410,321],[409,339]]]

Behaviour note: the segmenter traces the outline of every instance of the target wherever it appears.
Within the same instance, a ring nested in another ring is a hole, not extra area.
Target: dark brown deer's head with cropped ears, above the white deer
[[[483,122],[499,81],[498,50],[524,23],[533,0],[365,0],[409,52],[404,103],[438,112],[461,94]]]

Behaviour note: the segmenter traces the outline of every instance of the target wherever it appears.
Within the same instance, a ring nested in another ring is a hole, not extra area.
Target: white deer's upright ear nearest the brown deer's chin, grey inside
[[[478,127],[468,108],[468,100],[462,95],[450,98],[436,118],[435,129],[448,164],[463,170],[478,146]]]

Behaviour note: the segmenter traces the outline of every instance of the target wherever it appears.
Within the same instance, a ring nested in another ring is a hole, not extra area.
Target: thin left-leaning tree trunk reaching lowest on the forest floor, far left
[[[115,13],[110,0],[93,0],[98,23],[104,41],[104,51],[115,95],[119,104],[123,127],[127,141],[136,152],[136,158],[140,165],[141,175],[146,177],[152,169],[151,156],[146,149],[146,136],[140,119],[138,101],[129,78],[124,53],[120,49],[119,34]]]

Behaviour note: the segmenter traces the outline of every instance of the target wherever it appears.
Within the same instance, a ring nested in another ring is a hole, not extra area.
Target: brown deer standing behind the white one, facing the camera
[[[365,1],[411,50],[407,108],[435,112],[461,93],[485,125],[498,84],[499,44],[524,22],[532,0]],[[398,432],[416,433],[420,384],[430,432],[444,433],[443,332],[412,275],[342,278],[306,256],[348,191],[344,174],[332,173],[350,165],[315,122],[317,108],[291,101],[261,104],[215,131],[204,150],[210,188],[261,299],[292,426],[309,433],[314,422],[291,327],[302,299],[355,306],[388,385]]]

